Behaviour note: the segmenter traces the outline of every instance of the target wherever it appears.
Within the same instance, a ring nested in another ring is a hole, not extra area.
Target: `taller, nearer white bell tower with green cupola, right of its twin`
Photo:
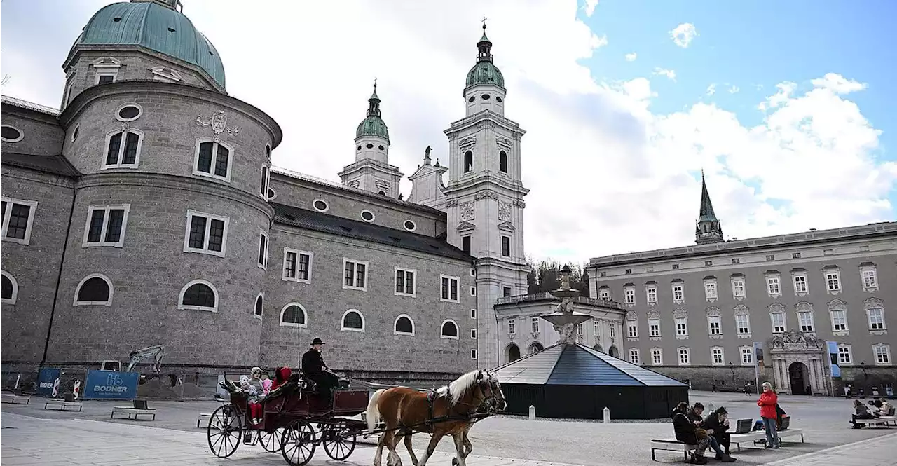
[[[492,41],[477,42],[476,63],[463,92],[466,116],[448,136],[448,185],[440,207],[448,213],[448,242],[476,258],[477,366],[497,367],[500,298],[527,293],[523,243],[520,140],[526,132],[504,116],[507,90],[492,63]]]

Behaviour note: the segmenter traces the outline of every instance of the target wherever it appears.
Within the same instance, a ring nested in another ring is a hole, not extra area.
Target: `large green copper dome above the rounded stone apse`
[[[187,16],[174,9],[175,3],[176,0],[138,0],[106,5],[87,22],[72,48],[146,47],[199,66],[224,87],[224,65],[218,51]]]

